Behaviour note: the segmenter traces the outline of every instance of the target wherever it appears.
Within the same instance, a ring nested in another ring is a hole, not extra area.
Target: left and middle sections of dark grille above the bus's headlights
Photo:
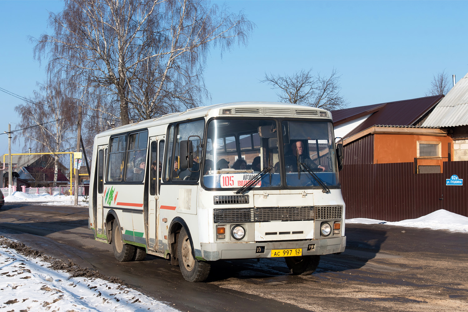
[[[214,223],[314,220],[314,207],[257,207],[213,210]]]

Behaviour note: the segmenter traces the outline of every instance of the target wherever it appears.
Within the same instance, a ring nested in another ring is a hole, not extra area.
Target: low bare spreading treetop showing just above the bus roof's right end
[[[291,76],[265,73],[261,82],[271,85],[272,89],[279,89],[277,95],[280,102],[335,110],[348,105],[340,95],[340,78],[335,68],[329,76],[321,76],[320,73],[314,75],[311,68],[307,72],[300,70]]]

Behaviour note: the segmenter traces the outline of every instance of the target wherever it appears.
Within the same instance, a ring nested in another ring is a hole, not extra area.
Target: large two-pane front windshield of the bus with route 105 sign
[[[331,122],[213,119],[205,146],[208,189],[339,186]]]

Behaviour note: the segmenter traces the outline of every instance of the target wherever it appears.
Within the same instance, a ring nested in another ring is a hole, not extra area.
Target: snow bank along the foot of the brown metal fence
[[[397,222],[356,218],[347,219],[346,223],[398,225],[406,227],[430,228],[433,230],[449,230],[453,232],[468,233],[468,217],[461,216],[459,214],[447,211],[445,209],[436,210],[421,218],[408,219]]]

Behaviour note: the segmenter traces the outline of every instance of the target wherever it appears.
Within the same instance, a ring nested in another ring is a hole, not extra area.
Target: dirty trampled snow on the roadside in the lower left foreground
[[[99,278],[72,277],[0,242],[0,311],[176,312],[137,290]]]

